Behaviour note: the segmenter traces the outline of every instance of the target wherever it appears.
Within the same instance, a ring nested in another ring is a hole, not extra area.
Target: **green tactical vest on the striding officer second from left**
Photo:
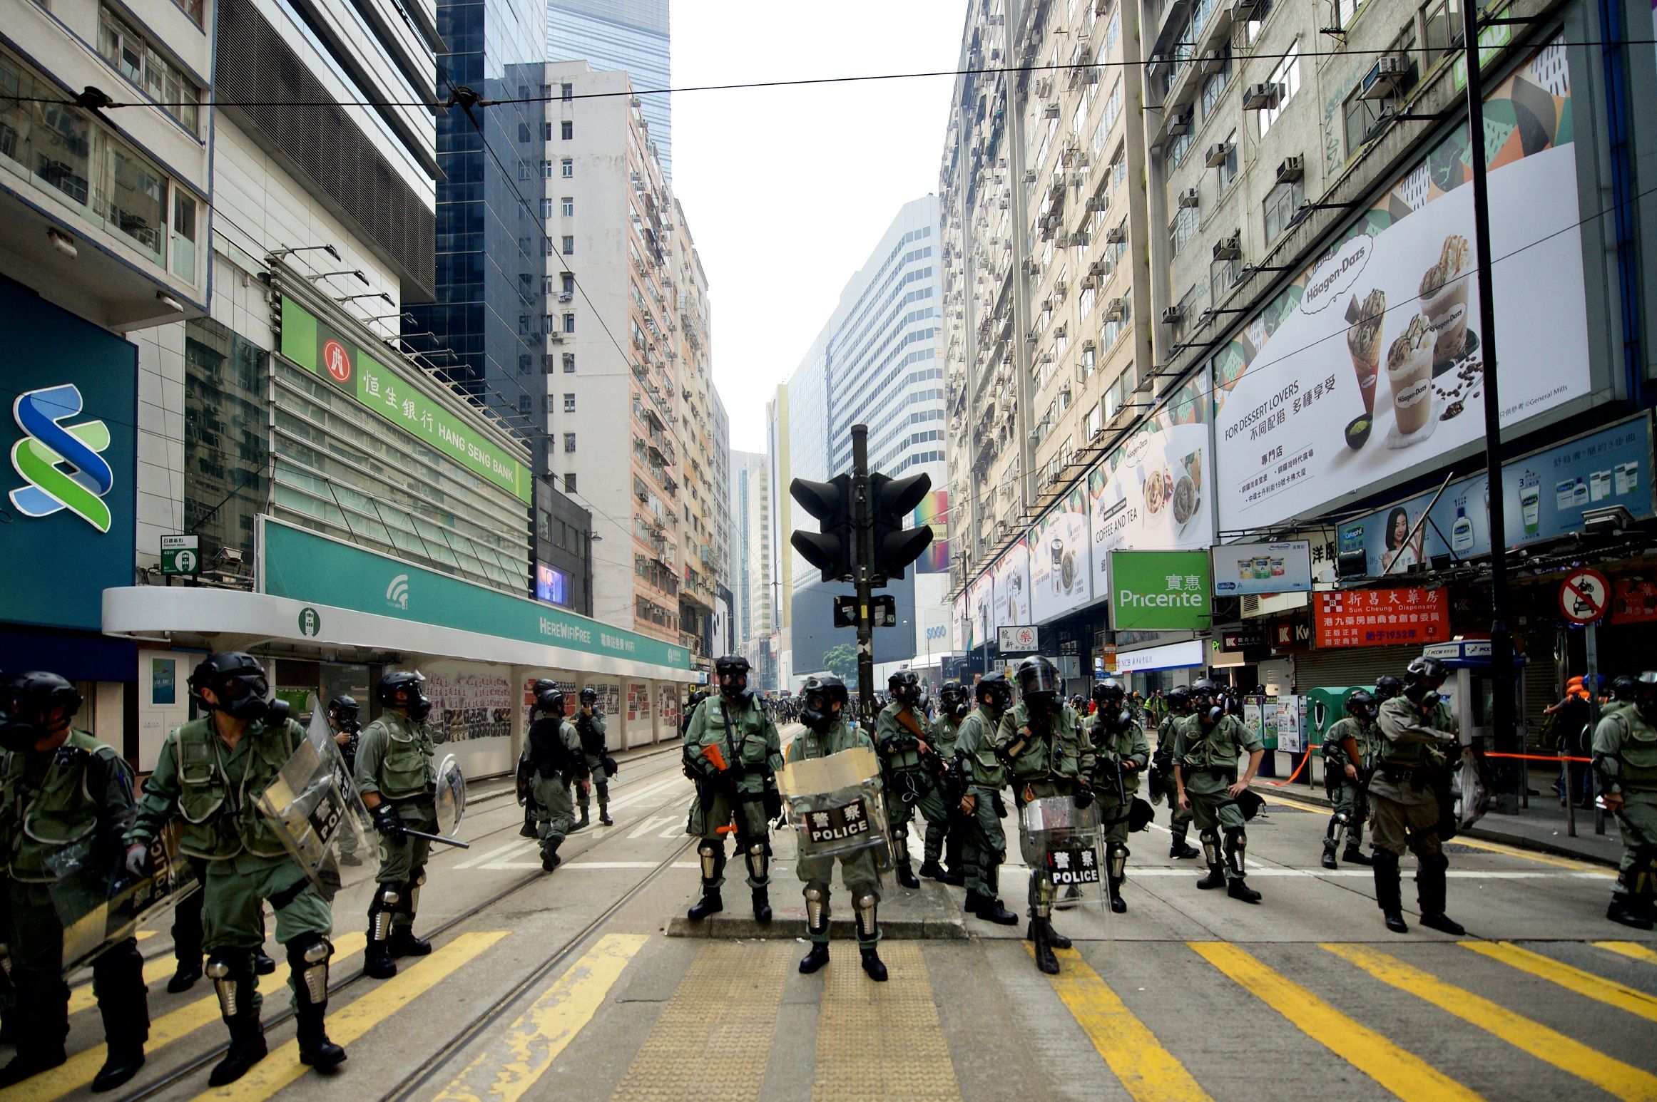
[[[212,715],[177,728],[174,751],[179,817],[184,819],[179,849],[210,860],[235,857],[244,849],[255,857],[285,857],[288,850],[260,814],[257,801],[303,736],[293,720],[277,728],[249,723],[242,735],[247,740],[247,769],[232,791],[222,764],[230,750],[219,738]]]

